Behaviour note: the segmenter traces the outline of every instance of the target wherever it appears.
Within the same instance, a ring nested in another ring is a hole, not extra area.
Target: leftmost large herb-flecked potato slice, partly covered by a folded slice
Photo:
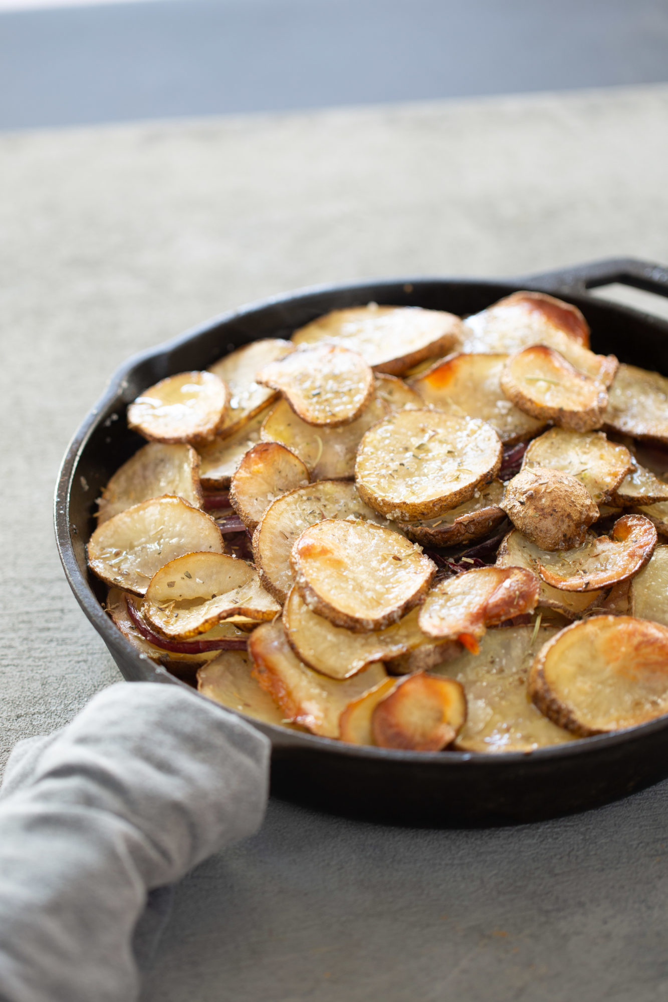
[[[223,552],[216,522],[181,498],[156,498],[99,525],[88,541],[88,566],[107,584],[143,595],[155,571],[195,550]]]

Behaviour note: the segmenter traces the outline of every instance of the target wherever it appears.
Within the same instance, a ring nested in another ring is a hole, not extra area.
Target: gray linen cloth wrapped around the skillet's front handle
[[[267,738],[176,685],[119,682],[16,745],[0,789],[0,998],[131,1002],[171,887],[255,832]]]

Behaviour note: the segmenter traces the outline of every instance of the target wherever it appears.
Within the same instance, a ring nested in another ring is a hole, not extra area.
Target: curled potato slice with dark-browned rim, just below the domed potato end
[[[538,573],[561,591],[594,591],[633,577],[656,546],[656,529],[643,515],[624,515],[610,536],[590,536],[583,546],[545,554]]]

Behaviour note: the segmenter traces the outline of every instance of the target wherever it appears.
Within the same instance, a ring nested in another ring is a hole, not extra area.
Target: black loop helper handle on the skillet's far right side
[[[558,296],[583,296],[588,289],[618,282],[668,297],[668,268],[635,258],[606,258],[556,272],[526,276],[521,281],[526,282],[528,287],[540,288]]]

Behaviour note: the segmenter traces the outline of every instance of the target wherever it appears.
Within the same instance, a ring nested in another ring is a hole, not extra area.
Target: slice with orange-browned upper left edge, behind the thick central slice
[[[444,411],[454,405],[461,414],[486,421],[504,445],[524,442],[543,431],[546,421],[525,414],[505,396],[499,380],[507,360],[508,355],[454,355],[411,386],[425,404]]]

